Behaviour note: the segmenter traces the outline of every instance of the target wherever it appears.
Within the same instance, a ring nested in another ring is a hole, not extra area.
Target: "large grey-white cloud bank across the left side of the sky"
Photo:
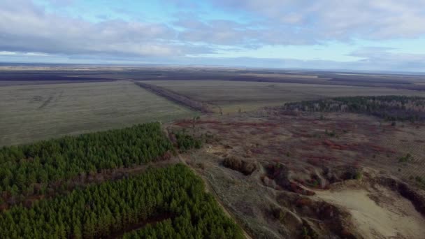
[[[49,54],[170,56],[200,52],[178,43],[166,24],[103,20],[92,23],[46,13],[25,0],[0,3],[0,50]],[[210,52],[204,48],[205,52]]]

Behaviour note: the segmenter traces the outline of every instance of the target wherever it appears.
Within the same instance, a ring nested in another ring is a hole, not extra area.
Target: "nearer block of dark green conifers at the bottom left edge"
[[[136,231],[131,231],[136,230]],[[201,178],[178,164],[14,206],[0,214],[0,238],[243,238],[204,191]]]

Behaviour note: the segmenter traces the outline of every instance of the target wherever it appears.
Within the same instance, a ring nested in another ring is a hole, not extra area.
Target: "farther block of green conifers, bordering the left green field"
[[[81,173],[166,159],[171,150],[159,123],[2,147],[0,205],[2,198],[45,194],[49,183]]]

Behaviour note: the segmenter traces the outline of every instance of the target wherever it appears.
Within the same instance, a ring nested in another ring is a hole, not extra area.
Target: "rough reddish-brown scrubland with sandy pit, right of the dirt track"
[[[425,191],[410,176],[425,177],[425,147],[414,143],[425,125],[322,116],[268,109],[169,127],[210,136],[182,157],[252,238],[422,238]],[[414,159],[400,162],[407,152]]]

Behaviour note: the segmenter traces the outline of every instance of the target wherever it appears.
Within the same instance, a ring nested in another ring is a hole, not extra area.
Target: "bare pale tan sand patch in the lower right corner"
[[[316,193],[324,201],[347,208],[365,238],[424,238],[424,217],[394,191],[379,187]]]

